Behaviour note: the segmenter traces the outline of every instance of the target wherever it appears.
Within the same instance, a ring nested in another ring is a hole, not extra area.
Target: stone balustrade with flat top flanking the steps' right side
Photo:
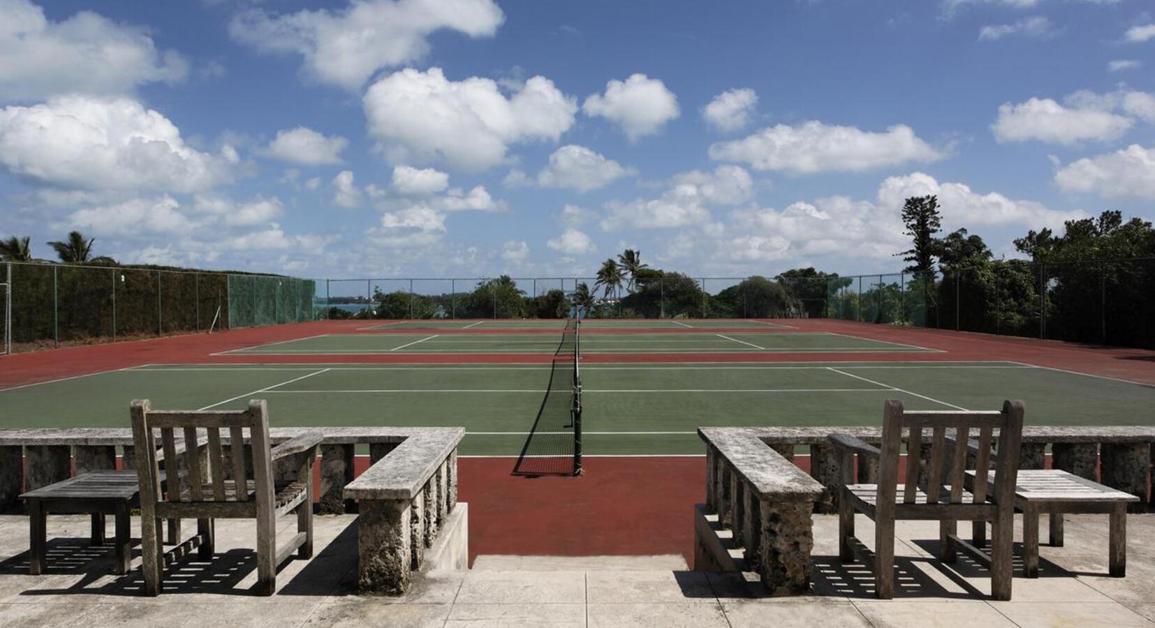
[[[706,442],[707,479],[706,504],[695,513],[694,569],[757,571],[772,593],[807,591],[811,514],[826,489],[759,431],[703,427],[698,435]],[[730,554],[739,548],[740,563]]]

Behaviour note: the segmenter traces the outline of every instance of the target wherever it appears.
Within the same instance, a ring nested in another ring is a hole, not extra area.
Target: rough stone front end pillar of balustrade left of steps
[[[358,586],[367,593],[404,593],[413,560],[410,502],[362,500],[358,508]]]

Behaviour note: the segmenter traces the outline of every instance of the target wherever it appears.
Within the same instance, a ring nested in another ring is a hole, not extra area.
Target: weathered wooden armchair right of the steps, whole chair
[[[1013,571],[1012,525],[1014,491],[1022,439],[1022,402],[1003,403],[1001,412],[906,412],[902,402],[886,402],[881,449],[858,439],[832,434],[828,440],[840,450],[842,489],[839,500],[839,559],[849,562],[860,544],[855,538],[855,513],[874,521],[873,561],[865,560],[874,573],[879,598],[894,597],[894,522],[899,519],[939,521],[940,558],[955,560],[964,551],[990,567],[991,595],[1011,599]],[[930,456],[923,470],[924,431],[930,428]],[[998,428],[998,451],[991,451]],[[907,435],[907,472],[899,483],[900,448]],[[953,439],[947,439],[947,431]],[[967,438],[978,429],[976,468],[981,476],[975,492],[963,489],[967,466]],[[878,461],[878,484],[855,484],[854,455]],[[988,494],[988,469],[994,462],[993,489]],[[923,472],[925,471],[925,472]],[[922,481],[921,481],[922,476]],[[922,486],[921,486],[922,484]],[[991,550],[985,552],[957,536],[959,521],[991,522]],[[873,562],[873,565],[871,565]]]

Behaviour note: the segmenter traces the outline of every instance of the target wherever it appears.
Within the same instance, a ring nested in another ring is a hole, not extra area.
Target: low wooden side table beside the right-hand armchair
[[[968,488],[975,472],[967,472]],[[1127,571],[1127,503],[1139,498],[1057,469],[1021,469],[1015,485],[1015,510],[1022,513],[1023,573],[1038,577],[1038,515],[1051,516],[1051,546],[1063,546],[1064,514],[1110,515],[1109,571],[1123,577]]]

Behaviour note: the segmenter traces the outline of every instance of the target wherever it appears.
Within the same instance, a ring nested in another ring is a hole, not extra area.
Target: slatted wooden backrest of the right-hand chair
[[[903,480],[903,502],[917,503],[919,476],[925,472],[926,499],[924,503],[940,503],[942,491],[949,491],[949,503],[962,503],[963,474],[973,429],[978,431],[974,503],[988,499],[988,474],[994,463],[996,503],[1013,507],[1015,481],[1019,474],[1019,449],[1022,442],[1023,404],[1003,402],[998,412],[923,411],[907,412],[902,402],[887,401],[882,419],[882,447],[879,459],[878,503],[893,504],[899,485],[899,461],[903,432],[907,443],[907,469]],[[930,429],[930,455],[923,469],[923,442]],[[994,431],[998,429],[998,451],[991,453]],[[947,432],[953,442],[948,442]],[[944,486],[945,485],[945,486]]]

